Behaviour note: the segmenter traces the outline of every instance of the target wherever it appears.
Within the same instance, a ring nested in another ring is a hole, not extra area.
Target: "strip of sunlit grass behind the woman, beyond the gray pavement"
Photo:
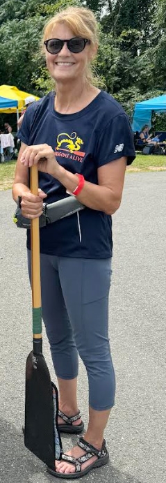
[[[16,161],[0,163],[0,191],[12,188]],[[166,170],[166,156],[137,154],[128,171],[157,171]]]

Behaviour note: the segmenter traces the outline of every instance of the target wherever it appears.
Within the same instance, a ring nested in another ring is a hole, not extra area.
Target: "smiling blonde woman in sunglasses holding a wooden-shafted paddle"
[[[72,193],[85,205],[78,216],[40,229],[42,315],[58,378],[61,431],[83,430],[76,401],[78,353],[88,373],[88,429],[53,472],[74,478],[108,462],[103,431],[115,401],[108,341],[111,215],[119,208],[126,164],[135,151],[124,110],[94,86],[93,13],[77,7],[58,13],[44,29],[44,47],[56,93],[24,115],[13,198],[22,196],[22,214],[30,219],[42,214],[46,197],[53,202]],[[28,168],[36,163],[38,196],[28,187]],[[29,234],[27,247],[30,266]]]

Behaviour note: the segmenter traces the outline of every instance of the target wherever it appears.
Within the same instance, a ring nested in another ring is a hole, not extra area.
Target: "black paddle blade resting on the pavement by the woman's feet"
[[[53,398],[49,369],[40,354],[26,359],[25,446],[55,469]]]

